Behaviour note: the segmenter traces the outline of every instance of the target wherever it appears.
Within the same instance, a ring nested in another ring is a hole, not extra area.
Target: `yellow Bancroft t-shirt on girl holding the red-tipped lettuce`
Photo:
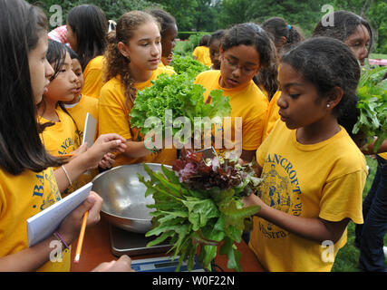
[[[263,167],[260,198],[271,208],[303,218],[363,223],[366,162],[343,128],[328,140],[304,145],[295,130],[277,121],[256,160]],[[330,271],[334,262],[328,257],[334,258],[345,243],[346,230],[327,256],[328,248],[320,243],[255,217],[249,247],[268,271]]]

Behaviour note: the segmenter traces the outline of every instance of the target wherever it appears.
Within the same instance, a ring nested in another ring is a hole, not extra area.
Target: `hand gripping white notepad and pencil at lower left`
[[[81,227],[83,215],[89,210],[87,218],[87,226],[93,226],[100,221],[100,211],[102,208],[102,198],[94,191],[90,192],[88,198],[78,207],[75,208],[66,218],[64,218],[58,232],[63,239],[71,244],[78,237]]]

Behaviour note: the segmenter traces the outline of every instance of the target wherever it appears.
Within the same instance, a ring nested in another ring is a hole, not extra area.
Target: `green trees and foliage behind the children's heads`
[[[348,10],[370,21],[375,45],[372,53],[387,53],[387,2],[384,0],[27,0],[40,5],[50,17],[52,5],[63,9],[63,24],[68,11],[81,4],[102,8],[108,19],[117,20],[126,11],[161,7],[174,15],[179,31],[214,32],[232,24],[254,21],[258,24],[273,16],[284,17],[300,28],[306,37],[326,14],[323,5]],[[53,27],[51,27],[53,28]]]

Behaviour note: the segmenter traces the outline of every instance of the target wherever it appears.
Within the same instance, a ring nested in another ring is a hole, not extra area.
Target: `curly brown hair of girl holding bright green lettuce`
[[[105,53],[107,60],[107,69],[105,72],[105,82],[120,75],[121,83],[125,88],[126,105],[134,103],[136,99],[137,89],[134,86],[134,79],[131,74],[129,63],[131,61],[120,52],[118,43],[128,44],[133,37],[136,29],[142,25],[153,22],[159,26],[160,24],[151,14],[143,11],[131,11],[121,15],[117,22],[116,31],[108,34],[108,47]]]

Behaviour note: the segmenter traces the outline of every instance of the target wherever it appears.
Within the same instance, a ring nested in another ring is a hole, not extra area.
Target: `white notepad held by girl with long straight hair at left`
[[[51,207],[45,208],[34,217],[27,219],[28,246],[33,247],[45,238],[50,237],[54,230],[61,225],[75,208],[89,196],[92,190],[92,182],[86,184],[81,189],[75,190],[67,197],[55,202]]]

